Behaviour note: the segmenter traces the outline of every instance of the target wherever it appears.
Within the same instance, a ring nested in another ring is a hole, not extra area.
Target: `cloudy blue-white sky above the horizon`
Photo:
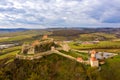
[[[0,28],[120,27],[120,0],[0,0]]]

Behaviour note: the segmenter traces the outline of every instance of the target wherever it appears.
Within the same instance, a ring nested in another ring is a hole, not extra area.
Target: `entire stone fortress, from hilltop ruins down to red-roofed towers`
[[[47,35],[44,35],[40,40],[35,40],[32,43],[24,43],[22,45],[21,52],[16,55],[16,58],[33,60],[33,59],[42,58],[43,56],[46,56],[46,55],[56,53],[58,55],[69,58],[71,60],[75,60],[80,63],[91,65],[91,67],[99,67],[99,64],[105,63],[103,53],[98,53],[95,50],[88,52],[90,54],[88,60],[83,60],[83,57],[81,57],[80,54],[78,54],[79,56],[77,57],[73,57],[71,55],[64,54],[60,51],[80,52],[79,50],[70,49],[67,42],[65,41],[55,41],[53,38],[48,38]],[[114,55],[111,55],[110,57],[113,57],[113,56]]]

